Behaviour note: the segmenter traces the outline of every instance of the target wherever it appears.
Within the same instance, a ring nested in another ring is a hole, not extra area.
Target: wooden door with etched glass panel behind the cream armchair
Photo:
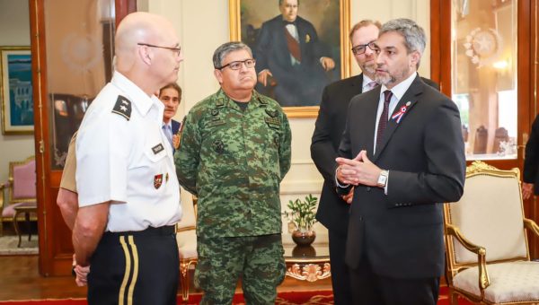
[[[431,0],[430,9],[431,78],[468,124],[468,163],[522,170],[537,113],[537,0]],[[525,214],[539,220],[532,200]]]

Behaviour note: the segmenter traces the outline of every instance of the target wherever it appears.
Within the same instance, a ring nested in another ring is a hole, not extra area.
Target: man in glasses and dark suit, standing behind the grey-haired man
[[[361,74],[331,83],[324,88],[320,111],[316,119],[311,157],[323,175],[322,196],[316,219],[329,232],[331,283],[335,304],[352,302],[348,267],[344,253],[348,231],[349,204],[353,192],[338,195],[335,192],[335,158],[340,137],[344,131],[349,101],[356,95],[375,88],[376,53],[368,44],[378,38],[380,22],[364,20],[355,24],[349,33],[352,53],[361,69]],[[437,83],[421,78],[423,82],[438,89]]]

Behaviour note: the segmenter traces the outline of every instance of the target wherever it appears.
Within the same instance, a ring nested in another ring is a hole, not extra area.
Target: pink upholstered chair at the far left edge
[[[8,190],[7,201],[4,201],[6,189]],[[0,236],[4,234],[4,222],[14,222],[15,216],[18,215],[17,209],[22,207],[26,209],[37,208],[34,156],[23,161],[9,162],[8,180],[0,184]],[[37,215],[32,214],[31,217],[26,216],[29,217],[30,221],[37,221]],[[19,234],[19,232],[17,233]]]

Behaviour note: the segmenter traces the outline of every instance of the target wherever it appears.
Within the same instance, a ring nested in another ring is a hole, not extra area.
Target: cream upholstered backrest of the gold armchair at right
[[[466,179],[461,200],[449,205],[451,220],[466,239],[487,249],[487,261],[526,257],[521,200],[514,177],[476,175]],[[454,244],[457,263],[477,262],[475,254]]]

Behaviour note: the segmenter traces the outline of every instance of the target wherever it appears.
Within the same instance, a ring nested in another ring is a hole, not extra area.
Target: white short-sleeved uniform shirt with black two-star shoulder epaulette
[[[106,231],[143,231],[181,218],[163,103],[114,72],[76,138],[79,206],[111,201]]]

